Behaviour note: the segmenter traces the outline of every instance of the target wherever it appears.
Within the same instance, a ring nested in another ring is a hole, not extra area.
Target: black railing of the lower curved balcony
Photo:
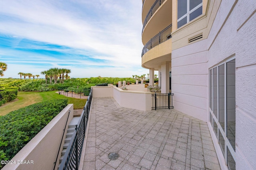
[[[143,47],[141,57],[150,49],[172,38],[171,32],[172,32],[172,24],[166,27],[164,30],[160,31],[152,39],[150,39],[150,41],[148,41],[146,45]]]

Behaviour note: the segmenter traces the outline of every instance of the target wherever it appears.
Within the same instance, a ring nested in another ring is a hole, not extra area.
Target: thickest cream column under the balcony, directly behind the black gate
[[[169,82],[169,63],[161,65],[161,93],[169,93],[170,82]]]

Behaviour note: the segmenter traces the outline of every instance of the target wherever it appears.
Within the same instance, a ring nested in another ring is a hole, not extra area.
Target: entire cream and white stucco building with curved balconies
[[[206,121],[222,169],[256,167],[256,1],[142,0],[142,67]]]

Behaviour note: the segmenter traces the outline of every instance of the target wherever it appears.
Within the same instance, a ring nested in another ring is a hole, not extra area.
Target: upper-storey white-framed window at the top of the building
[[[202,0],[178,0],[178,28],[200,16],[202,5]]]

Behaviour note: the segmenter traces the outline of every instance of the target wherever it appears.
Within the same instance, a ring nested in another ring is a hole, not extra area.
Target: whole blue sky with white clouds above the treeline
[[[2,78],[53,67],[71,78],[148,74],[141,11],[141,0],[0,0]]]

